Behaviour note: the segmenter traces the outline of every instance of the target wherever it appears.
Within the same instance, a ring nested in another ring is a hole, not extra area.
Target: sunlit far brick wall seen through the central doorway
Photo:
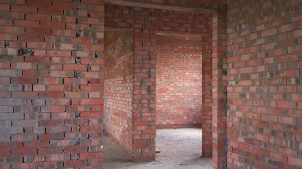
[[[201,127],[202,40],[158,36],[156,128]]]

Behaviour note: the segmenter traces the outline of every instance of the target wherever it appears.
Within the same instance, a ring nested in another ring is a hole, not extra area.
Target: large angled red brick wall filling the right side
[[[302,1],[229,0],[228,167],[302,168]]]

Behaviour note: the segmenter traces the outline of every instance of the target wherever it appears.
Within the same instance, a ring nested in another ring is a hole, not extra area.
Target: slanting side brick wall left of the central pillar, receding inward
[[[132,150],[133,32],[106,31],[104,129]]]

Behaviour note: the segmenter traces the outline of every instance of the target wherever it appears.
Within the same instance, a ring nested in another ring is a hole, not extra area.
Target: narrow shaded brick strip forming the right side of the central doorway
[[[212,157],[212,40],[202,42],[202,157]]]

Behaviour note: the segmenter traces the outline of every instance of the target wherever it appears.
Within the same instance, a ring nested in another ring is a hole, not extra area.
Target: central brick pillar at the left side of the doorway
[[[133,152],[134,162],[155,160],[156,57],[154,34],[134,34]]]

